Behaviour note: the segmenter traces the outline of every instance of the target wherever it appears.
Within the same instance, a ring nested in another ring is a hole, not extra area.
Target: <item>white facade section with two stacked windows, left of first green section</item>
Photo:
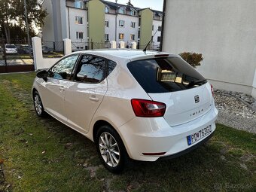
[[[75,17],[83,17],[83,24],[76,24]],[[85,48],[85,42],[87,39],[87,11],[77,8],[69,8],[69,23],[68,30],[70,28],[69,38],[72,40],[72,50],[79,50]],[[84,32],[83,39],[78,39],[76,37],[76,32]]]

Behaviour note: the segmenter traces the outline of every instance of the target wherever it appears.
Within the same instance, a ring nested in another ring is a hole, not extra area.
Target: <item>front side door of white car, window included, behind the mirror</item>
[[[47,81],[41,84],[41,98],[44,109],[53,117],[62,121],[67,120],[64,108],[64,95],[72,78],[72,72],[78,56],[78,54],[67,56],[57,62],[48,70]]]

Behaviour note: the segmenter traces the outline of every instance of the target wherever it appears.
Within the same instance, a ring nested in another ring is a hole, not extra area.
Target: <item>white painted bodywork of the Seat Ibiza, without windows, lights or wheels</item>
[[[131,158],[154,161],[197,145],[199,142],[187,145],[187,136],[206,126],[211,125],[214,132],[218,110],[209,83],[173,93],[146,93],[126,66],[127,62],[154,58],[159,54],[176,55],[155,51],[145,53],[142,50],[87,50],[77,53],[111,59],[117,66],[99,84],[53,78],[45,82],[35,78],[32,89],[38,90],[47,113],[90,140],[93,141],[96,122],[105,120],[120,135]],[[200,103],[194,103],[195,94],[200,96]],[[136,117],[131,99],[164,102],[166,113],[163,117]],[[142,154],[163,151],[166,152],[163,155]]]

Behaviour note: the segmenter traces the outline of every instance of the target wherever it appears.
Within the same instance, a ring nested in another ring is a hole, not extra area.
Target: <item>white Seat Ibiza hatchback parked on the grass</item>
[[[126,160],[178,157],[206,142],[218,110],[206,78],[178,55],[87,50],[38,72],[35,111],[96,142],[111,172]]]

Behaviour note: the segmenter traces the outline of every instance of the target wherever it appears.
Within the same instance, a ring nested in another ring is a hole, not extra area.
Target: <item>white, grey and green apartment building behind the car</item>
[[[130,47],[136,41],[143,49],[152,38],[151,48],[160,46],[160,11],[136,8],[130,1],[121,5],[101,0],[44,0],[42,6],[48,12],[42,29],[44,42],[70,38],[73,50],[84,50],[105,47],[109,41],[124,41]]]

